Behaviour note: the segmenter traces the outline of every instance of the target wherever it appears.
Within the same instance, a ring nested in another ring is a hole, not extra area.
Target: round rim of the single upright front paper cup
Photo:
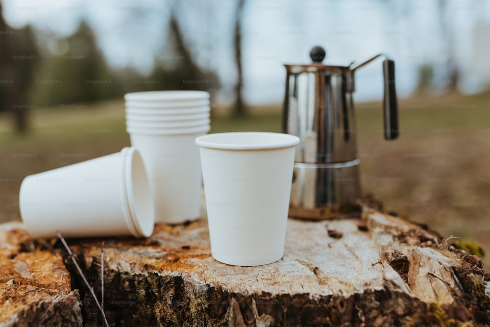
[[[227,132],[202,135],[196,145],[215,150],[272,150],[294,147],[299,138],[286,133]]]

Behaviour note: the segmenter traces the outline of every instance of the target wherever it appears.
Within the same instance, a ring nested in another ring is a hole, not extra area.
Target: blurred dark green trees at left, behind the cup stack
[[[179,59],[173,60],[177,64],[169,68],[156,58],[151,72],[142,74],[132,66],[119,71],[111,69],[98,48],[97,32],[84,20],[72,35],[59,37],[46,31],[36,34],[31,25],[14,29],[0,16],[0,30],[8,36],[0,39],[0,72],[7,80],[0,88],[0,112],[12,111],[16,129],[23,132],[32,106],[72,107],[122,98],[127,92],[219,87],[218,75],[196,64],[174,14],[168,28],[165,51]],[[206,83],[183,82],[186,80]],[[30,103],[35,104],[29,106]],[[27,108],[14,108],[12,104],[27,104]]]

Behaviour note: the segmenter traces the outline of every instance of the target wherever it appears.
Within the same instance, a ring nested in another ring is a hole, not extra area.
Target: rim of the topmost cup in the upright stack
[[[206,91],[144,91],[124,95],[125,101],[137,102],[182,102],[209,100]]]

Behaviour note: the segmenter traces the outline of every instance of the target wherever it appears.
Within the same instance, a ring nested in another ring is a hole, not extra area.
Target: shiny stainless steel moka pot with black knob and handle
[[[330,219],[357,211],[361,197],[352,93],[355,71],[377,59],[383,61],[384,128],[386,140],[398,136],[394,61],[378,54],[347,67],[322,64],[325,50],[310,52],[313,63],[285,65],[283,132],[296,135],[289,215]]]

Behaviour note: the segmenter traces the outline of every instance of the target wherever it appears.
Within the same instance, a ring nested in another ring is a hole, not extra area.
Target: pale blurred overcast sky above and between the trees
[[[86,19],[115,69],[131,64],[148,72],[155,56],[168,55],[163,49],[173,1],[1,1],[3,15],[14,27],[30,23],[36,29],[66,36],[73,33],[81,18]],[[236,1],[176,3],[181,28],[193,45],[199,64],[217,70],[223,83],[232,86],[237,78],[232,48]],[[315,45],[326,48],[324,62],[329,64],[348,65],[380,52],[391,55],[396,63],[398,94],[408,96],[415,88],[417,69],[422,63],[443,66],[449,49],[445,40],[449,38],[454,41],[453,56],[465,77],[463,87],[474,90],[471,83],[474,78],[470,75],[475,71],[471,71],[472,65],[475,67],[474,30],[477,25],[490,22],[490,3],[446,1],[444,19],[449,22],[446,25],[441,25],[438,3],[438,0],[246,0],[243,24],[246,100],[282,101],[283,64],[310,62],[308,53]],[[380,60],[356,72],[357,100],[381,99],[381,67]],[[443,74],[438,76],[442,81],[445,78]]]

